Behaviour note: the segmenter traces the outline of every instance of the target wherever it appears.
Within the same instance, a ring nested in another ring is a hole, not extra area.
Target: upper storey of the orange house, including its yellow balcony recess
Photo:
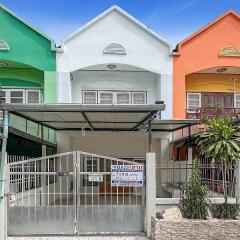
[[[228,11],[173,52],[173,118],[240,113],[240,15]]]

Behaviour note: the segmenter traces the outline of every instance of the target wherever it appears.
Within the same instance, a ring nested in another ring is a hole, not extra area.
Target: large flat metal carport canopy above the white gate
[[[152,120],[165,104],[2,104],[0,110],[22,116],[55,130],[134,131]]]

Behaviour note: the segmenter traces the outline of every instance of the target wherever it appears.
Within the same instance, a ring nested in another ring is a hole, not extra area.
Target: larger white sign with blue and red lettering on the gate
[[[143,165],[112,165],[111,170],[111,186],[143,186]]]

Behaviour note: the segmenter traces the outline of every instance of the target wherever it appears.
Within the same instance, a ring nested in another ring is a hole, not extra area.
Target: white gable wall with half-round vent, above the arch
[[[121,44],[127,55],[103,54],[111,43]],[[172,72],[169,46],[114,10],[65,41],[62,47],[64,52],[57,54],[60,72],[103,63],[123,63],[156,73]]]

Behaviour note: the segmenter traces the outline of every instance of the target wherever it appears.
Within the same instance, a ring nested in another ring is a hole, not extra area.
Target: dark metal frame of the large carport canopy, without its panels
[[[15,114],[17,116],[23,117],[27,120],[33,121],[35,123],[41,124],[43,126],[52,128],[56,131],[72,131],[72,130],[82,130],[83,127],[72,127],[72,128],[56,128],[51,124],[54,123],[86,123],[88,125],[85,130],[89,131],[137,131],[142,126],[148,126],[149,120],[152,121],[159,111],[165,109],[164,104],[155,105],[85,105],[85,104],[44,104],[44,105],[26,105],[26,104],[2,104],[0,110],[6,110],[9,113]],[[52,121],[45,120],[40,121],[31,117],[28,117],[21,112],[47,112],[47,113],[81,113],[82,118],[85,121]],[[144,118],[140,121],[91,121],[87,114],[88,113],[145,113]],[[109,123],[109,124],[132,124],[133,127],[130,128],[96,128],[93,125],[98,123]]]

